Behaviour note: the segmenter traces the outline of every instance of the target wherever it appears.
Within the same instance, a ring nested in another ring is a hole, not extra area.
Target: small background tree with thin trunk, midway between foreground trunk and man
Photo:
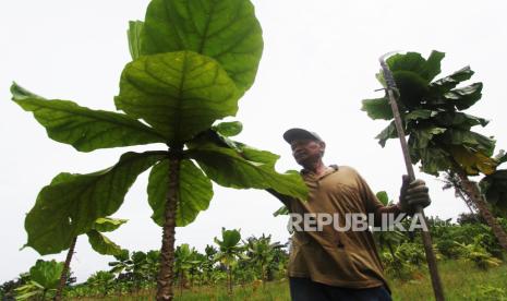
[[[215,243],[218,244],[219,251],[216,260],[224,264],[227,268],[227,291],[232,294],[232,269],[238,263],[238,258],[248,257],[243,254],[243,246],[240,245],[241,233],[239,230],[226,230],[221,228],[221,240],[215,238]]]

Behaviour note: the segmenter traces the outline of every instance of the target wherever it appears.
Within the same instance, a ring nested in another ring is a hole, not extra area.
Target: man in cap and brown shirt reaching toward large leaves
[[[403,177],[399,203],[384,206],[353,168],[324,165],[326,144],[316,133],[290,129],[283,139],[303,167],[301,174],[310,190],[306,202],[268,190],[287,206],[292,221],[294,217],[304,221],[299,230],[293,227],[288,266],[292,300],[391,300],[371,231],[342,231],[335,226],[343,229],[348,214],[372,214],[375,224],[384,214],[413,214],[417,205],[425,207],[431,203],[425,183],[409,183]],[[315,226],[315,219],[324,221],[318,217],[324,214],[338,220],[326,220],[316,230],[307,227]],[[313,222],[306,217],[312,217]]]

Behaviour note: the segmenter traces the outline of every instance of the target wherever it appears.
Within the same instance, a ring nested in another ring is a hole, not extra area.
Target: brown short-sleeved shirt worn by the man
[[[304,171],[302,176],[310,189],[309,200],[280,198],[291,214],[327,213],[343,227],[347,213],[399,213],[397,206],[385,207],[351,167],[331,166],[323,176]],[[293,216],[291,218],[294,220]],[[322,231],[294,232],[288,274],[336,287],[385,285],[389,289],[372,232],[337,231],[333,224],[323,226]]]

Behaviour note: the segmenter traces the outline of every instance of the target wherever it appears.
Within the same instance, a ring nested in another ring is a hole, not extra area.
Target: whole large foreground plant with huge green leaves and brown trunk
[[[27,245],[40,254],[69,249],[97,218],[117,212],[150,169],[148,203],[162,227],[157,300],[171,300],[174,228],[208,207],[212,181],[301,198],[307,189],[297,172],[275,170],[277,155],[226,140],[241,131],[239,123],[217,122],[237,113],[261,59],[262,29],[249,0],[153,0],[128,36],[133,61],[114,98],[122,112],[46,99],[16,84],[12,99],[50,139],[80,152],[152,143],[167,150],[129,152],[100,171],[58,174],[26,216]]]

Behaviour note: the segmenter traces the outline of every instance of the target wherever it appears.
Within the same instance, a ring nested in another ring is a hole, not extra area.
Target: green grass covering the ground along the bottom
[[[488,270],[481,270],[471,263],[461,261],[439,262],[439,272],[446,293],[446,300],[495,300],[507,301],[507,264]],[[389,280],[394,300],[433,300],[433,290],[426,272],[417,279],[402,281]],[[225,285],[216,287],[196,287],[183,290],[180,294],[176,289],[178,301],[201,300],[252,300],[252,301],[286,301],[290,300],[287,280],[267,282],[263,285],[236,286],[233,296],[228,296]],[[134,296],[110,297],[104,300],[141,301],[155,300],[155,291],[145,291]],[[96,299],[80,299],[96,300]]]

